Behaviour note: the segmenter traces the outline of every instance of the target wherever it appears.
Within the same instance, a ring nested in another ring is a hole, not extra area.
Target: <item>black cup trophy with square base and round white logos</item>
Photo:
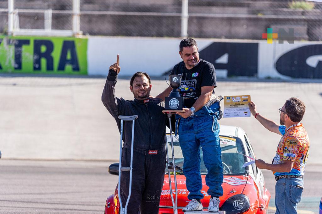
[[[175,114],[176,112],[185,112],[183,109],[183,97],[180,96],[178,88],[181,84],[182,75],[170,74],[169,82],[173,90],[169,94],[169,97],[166,97],[166,107],[162,112],[166,114]]]

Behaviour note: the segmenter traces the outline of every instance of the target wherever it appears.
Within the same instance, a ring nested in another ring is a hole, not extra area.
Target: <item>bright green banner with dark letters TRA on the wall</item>
[[[87,39],[0,36],[0,73],[87,75]]]

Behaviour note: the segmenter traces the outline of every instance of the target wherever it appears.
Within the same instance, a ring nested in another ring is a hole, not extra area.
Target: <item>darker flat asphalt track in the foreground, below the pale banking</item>
[[[0,213],[103,213],[118,176],[108,174],[110,161],[35,161],[0,159]],[[298,213],[317,213],[322,169],[308,165]],[[263,170],[275,212],[275,179]]]

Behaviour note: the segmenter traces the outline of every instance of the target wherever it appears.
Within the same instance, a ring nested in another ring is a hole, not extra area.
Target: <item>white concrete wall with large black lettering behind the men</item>
[[[178,38],[90,37],[89,75],[105,75],[120,54],[122,75],[146,71],[162,76],[181,61]],[[196,39],[200,58],[214,64],[218,77],[322,78],[322,42]]]

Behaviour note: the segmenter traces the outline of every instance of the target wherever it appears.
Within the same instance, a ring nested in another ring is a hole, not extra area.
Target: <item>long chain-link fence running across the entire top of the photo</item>
[[[3,32],[10,1],[0,0]],[[19,29],[75,34],[78,19],[76,31],[85,35],[263,39],[271,28],[294,29],[295,40],[322,40],[322,2],[314,1],[14,0],[13,11]]]

